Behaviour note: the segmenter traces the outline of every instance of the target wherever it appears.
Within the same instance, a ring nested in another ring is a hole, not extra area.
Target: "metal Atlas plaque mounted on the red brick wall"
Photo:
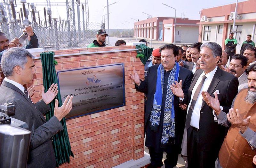
[[[66,119],[125,106],[124,63],[57,71],[62,102],[74,96]]]

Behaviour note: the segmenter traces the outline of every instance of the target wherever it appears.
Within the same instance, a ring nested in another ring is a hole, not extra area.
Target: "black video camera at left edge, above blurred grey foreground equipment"
[[[8,124],[15,127],[28,129],[26,122],[12,118],[15,115],[15,106],[12,103],[4,103],[0,105],[0,124]]]

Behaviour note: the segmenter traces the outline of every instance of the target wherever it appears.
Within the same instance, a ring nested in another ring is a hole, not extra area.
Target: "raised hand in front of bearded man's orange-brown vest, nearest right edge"
[[[248,127],[248,124],[250,123],[251,116],[248,116],[245,120],[240,115],[240,112],[238,109],[236,111],[234,108],[229,109],[229,113],[227,114],[228,121],[235,125],[242,133],[244,133]]]

